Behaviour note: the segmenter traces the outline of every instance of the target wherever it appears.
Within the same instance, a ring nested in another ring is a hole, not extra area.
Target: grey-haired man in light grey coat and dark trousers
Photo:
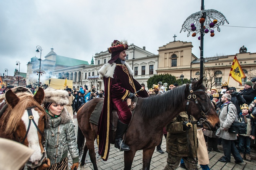
[[[230,162],[232,154],[235,158],[235,163],[239,164],[243,162],[243,159],[241,158],[234,142],[237,139],[237,134],[228,132],[228,128],[232,125],[232,123],[238,120],[237,108],[230,101],[230,94],[225,93],[222,95],[221,100],[224,104],[220,110],[220,128],[217,130],[216,136],[222,138],[224,156],[222,156],[219,161]]]

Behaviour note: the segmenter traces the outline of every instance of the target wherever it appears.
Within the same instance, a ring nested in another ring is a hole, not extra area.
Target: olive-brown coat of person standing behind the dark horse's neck
[[[191,118],[195,121],[195,118]],[[188,121],[188,115],[186,112],[180,112],[177,117],[175,117],[168,125],[166,125],[167,130],[167,143],[166,151],[178,157],[190,156],[190,149],[188,147],[187,132],[183,131],[183,121]],[[188,131],[188,136],[191,143],[191,150],[194,157],[197,155],[198,141],[197,141],[197,128],[193,125]]]

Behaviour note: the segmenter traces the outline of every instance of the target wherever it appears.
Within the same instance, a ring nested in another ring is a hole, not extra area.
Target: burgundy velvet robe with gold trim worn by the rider
[[[129,74],[125,65],[116,64],[113,78],[104,75],[104,86],[104,105],[98,124],[97,142],[99,155],[101,155],[103,160],[107,160],[110,148],[109,130],[113,99],[124,100],[130,95],[130,92],[135,93],[141,89],[141,85]],[[138,96],[147,97],[147,92],[140,91]],[[123,104],[126,104],[126,102],[123,102]]]

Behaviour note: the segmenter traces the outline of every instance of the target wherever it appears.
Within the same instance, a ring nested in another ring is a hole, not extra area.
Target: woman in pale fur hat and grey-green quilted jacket
[[[79,154],[74,124],[64,108],[64,105],[69,103],[68,92],[49,87],[44,93],[43,103],[47,113],[44,130],[45,148],[51,163],[47,170],[68,170],[68,151],[73,160],[71,170],[78,168]]]

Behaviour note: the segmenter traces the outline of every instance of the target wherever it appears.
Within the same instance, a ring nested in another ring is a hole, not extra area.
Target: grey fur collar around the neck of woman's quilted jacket
[[[66,124],[69,123],[71,120],[71,116],[66,110],[66,108],[63,109],[62,113],[57,118],[51,118],[48,113],[46,113],[46,122],[45,122],[45,128],[50,127],[57,127],[60,124]]]

